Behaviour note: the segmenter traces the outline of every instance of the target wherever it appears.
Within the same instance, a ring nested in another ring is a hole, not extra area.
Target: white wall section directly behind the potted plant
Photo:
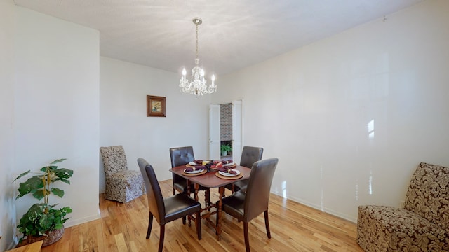
[[[67,227],[99,218],[99,33],[26,8],[15,12],[13,174],[67,158],[60,167],[74,170],[72,183],[60,184],[65,196],[51,203],[72,207]],[[20,218],[36,200],[16,203]]]

